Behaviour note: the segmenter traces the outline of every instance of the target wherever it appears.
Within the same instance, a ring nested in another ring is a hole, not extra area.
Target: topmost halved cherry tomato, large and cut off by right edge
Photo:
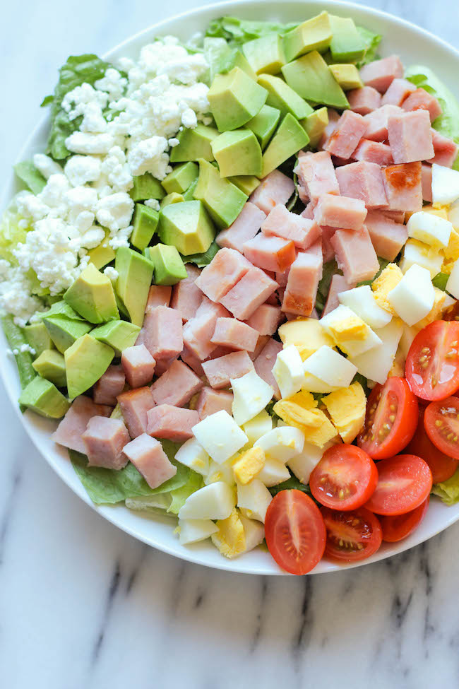
[[[434,321],[412,341],[405,375],[422,399],[445,399],[459,388],[459,323]]]

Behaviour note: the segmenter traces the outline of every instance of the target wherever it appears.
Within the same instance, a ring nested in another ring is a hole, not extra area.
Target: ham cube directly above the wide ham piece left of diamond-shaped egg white
[[[179,359],[172,362],[169,369],[155,380],[151,394],[155,404],[172,404],[181,407],[188,404],[191,397],[203,387],[203,382],[189,366]]]

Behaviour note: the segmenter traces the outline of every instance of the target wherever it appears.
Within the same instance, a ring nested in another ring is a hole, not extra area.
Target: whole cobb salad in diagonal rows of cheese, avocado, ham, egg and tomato
[[[304,574],[459,500],[459,104],[380,42],[223,17],[61,67],[0,307],[96,504]]]

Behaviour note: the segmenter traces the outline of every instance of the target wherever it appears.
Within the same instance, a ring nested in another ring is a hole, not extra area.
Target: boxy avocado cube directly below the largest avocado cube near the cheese
[[[224,131],[212,142],[212,151],[222,177],[261,175],[261,148],[253,131]]]

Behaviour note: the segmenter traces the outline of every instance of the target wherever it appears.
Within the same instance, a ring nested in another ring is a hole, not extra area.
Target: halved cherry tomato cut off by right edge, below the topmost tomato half
[[[424,427],[430,440],[440,452],[448,454],[453,459],[459,459],[458,397],[431,402],[424,412]]]

